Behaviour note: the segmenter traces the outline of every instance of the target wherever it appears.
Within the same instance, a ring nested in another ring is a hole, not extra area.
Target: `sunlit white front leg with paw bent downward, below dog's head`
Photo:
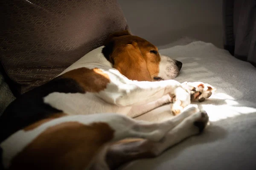
[[[140,106],[150,102],[157,101],[165,95],[175,96],[175,102],[172,111],[180,113],[184,107],[189,105],[191,94],[198,91],[199,88],[189,88],[187,84],[181,84],[175,80],[163,80],[159,82],[133,81],[118,71],[106,72],[110,78],[110,83],[103,91],[96,95],[104,101],[123,106]],[[212,86],[204,84],[205,88],[213,89]],[[211,90],[209,90],[210,92]],[[197,93],[196,93],[197,94]],[[208,96],[208,95],[207,95]]]

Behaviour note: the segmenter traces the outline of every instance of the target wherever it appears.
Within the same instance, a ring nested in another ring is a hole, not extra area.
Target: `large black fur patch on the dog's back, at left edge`
[[[57,77],[15,99],[0,116],[0,143],[12,133],[41,119],[62,112],[44,103],[43,98],[52,92],[85,93],[73,79]]]

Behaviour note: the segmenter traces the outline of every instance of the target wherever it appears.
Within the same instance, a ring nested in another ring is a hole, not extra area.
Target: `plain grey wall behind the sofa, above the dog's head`
[[[155,45],[182,36],[222,48],[222,0],[118,0],[133,34]]]

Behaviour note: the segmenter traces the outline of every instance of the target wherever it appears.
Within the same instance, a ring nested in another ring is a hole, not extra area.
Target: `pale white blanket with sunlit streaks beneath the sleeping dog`
[[[160,50],[183,62],[179,82],[202,81],[217,88],[199,104],[211,125],[155,159],[134,161],[122,170],[254,170],[256,168],[256,68],[228,51],[201,41]],[[170,105],[136,119],[162,121]]]

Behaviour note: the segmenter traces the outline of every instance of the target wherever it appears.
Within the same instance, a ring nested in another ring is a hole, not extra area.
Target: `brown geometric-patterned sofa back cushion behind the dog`
[[[1,64],[22,94],[128,29],[117,0],[3,0]]]

